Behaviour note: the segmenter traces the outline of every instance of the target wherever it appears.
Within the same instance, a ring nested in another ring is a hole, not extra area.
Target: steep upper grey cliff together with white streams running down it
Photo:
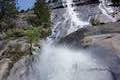
[[[53,8],[52,39],[57,41],[83,26],[91,26],[92,20],[98,23],[118,21],[120,19],[119,7],[111,7],[110,3],[109,0],[49,1],[51,8]]]

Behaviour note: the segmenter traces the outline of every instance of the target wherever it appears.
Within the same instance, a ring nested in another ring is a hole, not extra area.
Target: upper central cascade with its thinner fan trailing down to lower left
[[[79,14],[75,11],[75,7],[72,6],[73,4],[73,0],[62,0],[62,5],[64,7],[67,6],[65,9],[65,13],[63,14],[65,18],[65,20],[62,22],[64,24],[64,27],[59,27],[61,22],[55,23],[55,27],[52,30],[52,36],[54,36],[54,39],[51,40],[50,38],[48,38],[49,43],[52,44],[55,41],[57,42],[60,40],[60,38],[65,37],[65,35],[69,35],[70,33],[75,32],[80,28],[90,25],[89,21],[84,21],[80,19],[80,17],[78,16]],[[69,27],[65,25],[68,22]]]

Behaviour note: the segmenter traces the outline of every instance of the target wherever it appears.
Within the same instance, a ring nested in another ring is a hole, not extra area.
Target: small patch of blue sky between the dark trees
[[[32,8],[34,6],[35,0],[18,0],[17,6],[20,10],[27,10],[28,8]]]

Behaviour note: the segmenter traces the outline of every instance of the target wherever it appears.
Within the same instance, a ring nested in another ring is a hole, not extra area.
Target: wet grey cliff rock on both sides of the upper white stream
[[[88,2],[89,1],[89,2]],[[107,1],[110,3],[110,1]],[[78,4],[79,3],[79,4]],[[65,37],[69,35],[70,31],[75,32],[76,26],[75,23],[71,20],[71,15],[68,15],[67,7],[66,8],[58,8],[59,5],[62,3],[60,1],[51,3],[56,9],[52,9],[52,22],[53,22],[53,32],[51,35],[51,38],[53,38],[55,41],[59,40],[62,37]],[[74,4],[78,6],[74,6]],[[119,7],[109,6],[105,3],[102,3],[104,11],[102,11],[99,7],[101,3],[90,0],[75,0],[72,5],[74,12],[77,16],[77,18],[80,21],[83,22],[89,22],[90,25],[96,26],[99,24],[106,24],[106,23],[112,23],[117,22],[120,20],[120,9]],[[107,9],[113,9],[113,12],[110,12]],[[107,14],[107,16],[106,16]],[[110,18],[112,18],[112,20]],[[93,24],[95,23],[95,24]],[[84,23],[83,23],[84,25]],[[114,26],[114,25],[113,25]],[[72,27],[72,28],[71,28]],[[81,24],[77,26],[77,29],[80,29],[82,26]],[[84,26],[86,27],[86,26]],[[98,28],[96,28],[98,30]],[[114,30],[114,29],[113,29]],[[99,30],[98,30],[99,31]],[[94,32],[94,31],[93,31]]]

